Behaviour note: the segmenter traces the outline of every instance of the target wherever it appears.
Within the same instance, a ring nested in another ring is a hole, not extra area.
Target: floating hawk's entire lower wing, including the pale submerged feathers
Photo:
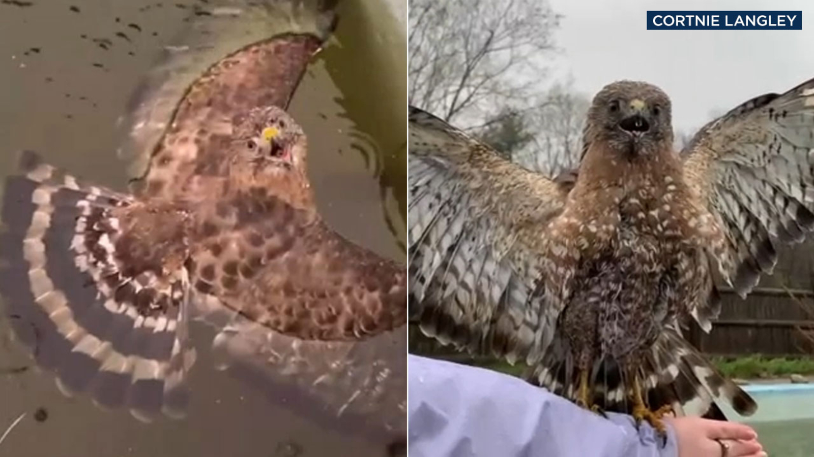
[[[202,216],[213,236],[192,256],[192,311],[217,329],[221,366],[330,425],[341,416],[376,440],[403,432],[404,266],[348,242],[313,209],[260,194]]]

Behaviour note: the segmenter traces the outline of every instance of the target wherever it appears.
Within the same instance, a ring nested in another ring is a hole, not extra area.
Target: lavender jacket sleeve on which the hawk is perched
[[[676,457],[630,416],[610,420],[518,378],[409,355],[410,457]]]

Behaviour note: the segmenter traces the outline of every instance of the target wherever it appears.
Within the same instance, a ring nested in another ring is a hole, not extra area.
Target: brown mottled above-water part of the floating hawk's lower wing
[[[240,195],[223,206],[223,219],[209,219],[221,234],[193,255],[200,293],[304,340],[355,341],[405,324],[406,280],[398,263],[285,202]]]

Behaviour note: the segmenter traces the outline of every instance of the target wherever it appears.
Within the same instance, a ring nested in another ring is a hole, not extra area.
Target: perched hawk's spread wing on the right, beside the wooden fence
[[[745,297],[771,274],[778,242],[814,228],[814,80],[764,94],[702,128],[684,151],[686,181],[726,233],[720,270]]]

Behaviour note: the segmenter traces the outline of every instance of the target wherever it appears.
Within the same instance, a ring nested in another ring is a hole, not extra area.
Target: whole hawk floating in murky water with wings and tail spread
[[[298,407],[306,392],[334,422],[404,432],[404,265],[317,214],[306,137],[282,110],[325,37],[243,46],[173,110],[137,107],[133,141],[161,135],[133,194],[23,154],[2,195],[0,294],[60,390],[142,420],[182,415],[200,319],[219,355],[260,365]]]

